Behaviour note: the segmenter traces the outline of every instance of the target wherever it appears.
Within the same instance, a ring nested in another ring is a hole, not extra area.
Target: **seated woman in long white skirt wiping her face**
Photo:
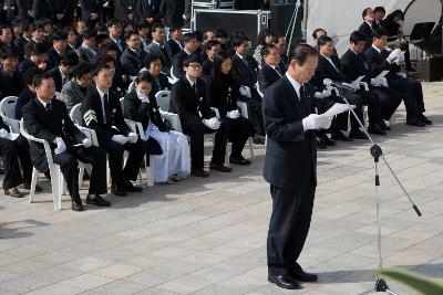
[[[124,117],[141,122],[145,129],[147,154],[154,158],[154,182],[172,183],[190,173],[189,145],[184,134],[171,130],[162,119],[152,93],[154,76],[142,72],[134,89],[124,96]]]

